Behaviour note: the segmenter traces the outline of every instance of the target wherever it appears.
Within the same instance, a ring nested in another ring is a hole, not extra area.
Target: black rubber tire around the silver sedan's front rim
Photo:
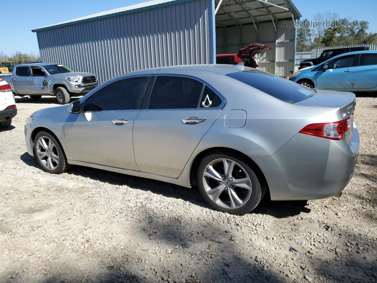
[[[58,154],[59,159],[58,159],[58,163],[57,163],[56,168],[53,169],[53,170],[46,168],[46,166],[42,164],[40,158],[38,158],[37,147],[38,147],[38,139],[40,137],[47,137],[47,138],[51,139],[52,142],[55,145],[55,148],[56,148],[56,151],[57,151],[57,152],[55,152],[55,154],[56,153]],[[72,168],[72,165],[68,164],[68,162],[67,162],[67,157],[64,154],[60,143],[56,140],[56,138],[53,135],[51,135],[48,132],[41,131],[41,132],[38,132],[37,135],[35,136],[35,138],[34,138],[34,155],[35,155],[35,158],[37,159],[39,165],[43,169],[43,171],[49,172],[51,174],[61,174],[65,171],[69,170],[70,168]]]

